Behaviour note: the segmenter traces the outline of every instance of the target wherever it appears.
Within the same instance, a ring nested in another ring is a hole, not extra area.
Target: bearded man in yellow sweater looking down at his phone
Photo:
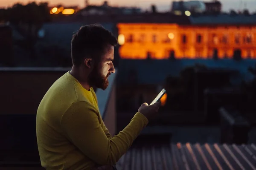
[[[99,113],[92,88],[108,87],[116,37],[98,25],[83,26],[73,35],[71,71],[60,77],[42,99],[36,118],[41,165],[49,170],[90,170],[116,164],[160,103],[143,103],[131,122],[111,136]]]

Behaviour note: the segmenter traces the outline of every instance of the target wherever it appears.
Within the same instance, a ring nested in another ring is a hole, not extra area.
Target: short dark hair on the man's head
[[[81,26],[71,40],[73,65],[79,66],[84,57],[99,58],[105,54],[107,45],[115,46],[116,37],[99,24]]]

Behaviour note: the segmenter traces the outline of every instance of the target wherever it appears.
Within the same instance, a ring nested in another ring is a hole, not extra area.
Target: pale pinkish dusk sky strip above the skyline
[[[33,0],[0,0],[0,7],[12,6],[14,3],[28,3]],[[35,0],[36,2],[45,2],[47,0]],[[89,0],[90,4],[102,4],[104,0]],[[172,0],[108,0],[113,6],[137,6],[143,9],[150,8],[151,4],[155,4],[159,11],[167,11],[170,9]],[[185,0],[186,1],[186,0]],[[205,0],[211,1],[211,0]],[[49,5],[64,4],[65,6],[84,7],[84,0],[49,0]],[[221,0],[223,11],[230,11],[231,8],[239,10],[247,7],[250,12],[256,11],[256,0]]]

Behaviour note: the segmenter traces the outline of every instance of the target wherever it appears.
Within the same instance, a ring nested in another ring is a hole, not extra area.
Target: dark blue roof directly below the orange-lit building
[[[250,80],[253,75],[248,71],[248,67],[254,67],[255,60],[244,59],[236,62],[233,59],[121,59],[119,61],[119,81],[127,83],[127,77],[131,72],[137,73],[138,84],[159,84],[163,83],[169,75],[178,76],[180,71],[186,67],[196,64],[205,65],[208,68],[227,68],[239,70],[245,80]]]

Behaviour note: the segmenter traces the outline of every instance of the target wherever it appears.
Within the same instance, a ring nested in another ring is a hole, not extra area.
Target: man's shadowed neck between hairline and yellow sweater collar
[[[73,65],[70,74],[79,81],[83,88],[85,88],[86,90],[90,89],[90,85],[88,83],[88,75],[86,74],[86,71],[84,71],[80,67],[76,67]]]

